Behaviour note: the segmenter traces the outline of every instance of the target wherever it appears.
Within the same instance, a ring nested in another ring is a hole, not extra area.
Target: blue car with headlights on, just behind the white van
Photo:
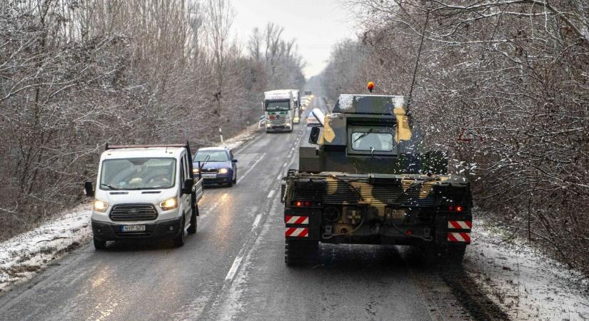
[[[228,185],[237,183],[237,160],[225,147],[199,148],[192,158],[194,175],[201,174],[206,185]],[[201,168],[198,168],[200,162]]]

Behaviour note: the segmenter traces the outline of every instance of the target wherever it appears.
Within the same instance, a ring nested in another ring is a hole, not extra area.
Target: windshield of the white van
[[[172,188],[176,178],[174,158],[121,158],[102,163],[102,190]]]

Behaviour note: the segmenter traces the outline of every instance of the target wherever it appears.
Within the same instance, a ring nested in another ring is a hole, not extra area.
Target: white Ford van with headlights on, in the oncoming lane
[[[182,246],[196,233],[202,179],[195,180],[190,146],[109,146],[102,153],[94,196],[94,248],[110,240],[171,238]]]

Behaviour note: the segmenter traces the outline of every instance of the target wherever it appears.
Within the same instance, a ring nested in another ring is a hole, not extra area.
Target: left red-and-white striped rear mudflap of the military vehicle
[[[285,210],[284,223],[284,236],[287,239],[319,240],[321,210],[301,209],[296,213]]]

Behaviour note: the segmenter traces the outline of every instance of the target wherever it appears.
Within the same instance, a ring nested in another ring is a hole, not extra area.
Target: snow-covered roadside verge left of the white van
[[[0,292],[29,280],[51,260],[86,242],[91,235],[90,206],[79,205],[39,228],[0,243]]]

